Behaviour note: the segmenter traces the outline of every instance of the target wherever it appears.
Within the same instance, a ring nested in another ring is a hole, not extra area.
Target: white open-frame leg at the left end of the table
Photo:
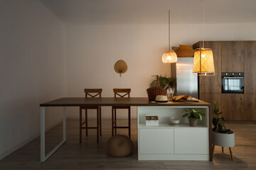
[[[66,108],[63,107],[63,140],[45,155],[45,108],[41,107],[41,162],[45,162],[54,152],[56,152],[66,141]]]

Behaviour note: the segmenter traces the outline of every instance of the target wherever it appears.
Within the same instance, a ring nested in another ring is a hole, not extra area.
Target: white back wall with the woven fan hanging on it
[[[167,25],[68,25],[66,40],[68,96],[84,96],[84,88],[102,88],[103,97],[113,96],[113,88],[131,88],[131,96],[146,97],[151,75],[171,74],[170,64],[161,63],[168,50]],[[171,26],[171,46],[199,40],[203,40],[202,24]],[[256,40],[256,23],[206,24],[205,40]],[[120,59],[128,65],[122,77],[114,72]],[[106,107],[102,113],[110,117],[110,111]],[[78,112],[68,108],[70,117]]]

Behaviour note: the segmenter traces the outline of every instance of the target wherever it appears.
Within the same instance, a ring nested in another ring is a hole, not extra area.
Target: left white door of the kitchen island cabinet
[[[174,154],[174,130],[139,129],[139,154]]]

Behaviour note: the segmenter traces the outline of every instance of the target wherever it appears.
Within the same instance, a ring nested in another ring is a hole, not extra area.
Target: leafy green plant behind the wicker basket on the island
[[[157,76],[156,76],[157,77]],[[157,78],[156,78],[157,79]],[[156,79],[149,84],[149,87],[154,87],[156,86]],[[164,76],[159,76],[159,87],[161,89],[169,89],[171,87],[176,87],[176,79],[174,77],[164,77]]]

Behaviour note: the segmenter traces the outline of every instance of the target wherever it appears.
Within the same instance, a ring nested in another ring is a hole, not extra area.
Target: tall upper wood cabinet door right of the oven
[[[245,94],[256,94],[256,41],[245,41]]]

